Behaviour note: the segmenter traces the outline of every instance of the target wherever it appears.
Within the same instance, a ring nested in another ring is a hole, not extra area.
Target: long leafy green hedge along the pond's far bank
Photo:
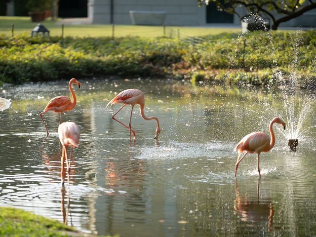
[[[19,83],[70,77],[177,77],[213,71],[227,83],[268,84],[273,73],[315,77],[316,31],[206,36],[200,44],[168,38],[0,37],[0,80]],[[293,45],[295,45],[293,47]],[[314,66],[313,66],[314,65]],[[234,70],[227,76],[218,70]],[[236,71],[240,71],[239,73]],[[219,79],[221,78],[221,79]]]

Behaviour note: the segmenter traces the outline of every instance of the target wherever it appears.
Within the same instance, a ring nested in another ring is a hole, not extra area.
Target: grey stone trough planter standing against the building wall
[[[129,11],[133,25],[162,26],[166,17],[165,11]]]

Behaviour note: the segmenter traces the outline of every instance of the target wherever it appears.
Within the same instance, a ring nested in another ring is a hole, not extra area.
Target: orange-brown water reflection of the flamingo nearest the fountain
[[[260,223],[268,220],[268,231],[271,231],[273,222],[273,203],[272,201],[261,201],[259,182],[257,182],[257,197],[251,199],[251,197],[241,196],[237,180],[235,182],[236,198],[234,201],[234,209],[236,214],[240,215],[242,221]]]

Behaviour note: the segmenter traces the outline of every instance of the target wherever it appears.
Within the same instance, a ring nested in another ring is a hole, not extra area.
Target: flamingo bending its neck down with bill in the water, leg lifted
[[[160,133],[160,126],[159,126],[159,120],[157,117],[146,117],[144,114],[144,107],[145,107],[145,97],[144,97],[144,93],[139,90],[139,89],[127,89],[127,90],[123,90],[120,93],[118,93],[118,95],[116,97],[114,97],[108,104],[106,107],[108,107],[110,104],[113,105],[115,103],[121,103],[124,104],[119,110],[118,112],[123,109],[126,105],[130,105],[131,108],[131,112],[130,112],[130,118],[129,118],[129,124],[128,126],[125,125],[124,123],[122,123],[121,121],[119,121],[118,119],[115,118],[115,116],[118,114],[115,113],[112,116],[112,119],[118,121],[120,124],[122,124],[123,126],[127,127],[129,129],[129,137],[130,137],[130,142],[132,141],[132,133],[134,135],[134,140],[136,139],[136,134],[134,132],[134,130],[132,129],[132,124],[131,124],[131,120],[132,120],[132,113],[133,113],[133,108],[136,104],[139,104],[140,106],[140,115],[142,118],[146,119],[146,120],[152,120],[155,119],[157,122],[157,128],[156,128],[156,136],[154,137],[154,139],[158,139],[158,135]]]

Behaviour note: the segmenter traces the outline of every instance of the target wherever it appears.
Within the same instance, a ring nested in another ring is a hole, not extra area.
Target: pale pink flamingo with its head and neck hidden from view
[[[63,122],[58,126],[58,135],[59,140],[63,146],[62,156],[61,156],[61,171],[60,176],[62,180],[62,184],[65,182],[65,158],[67,165],[67,173],[69,175],[69,164],[67,158],[67,149],[68,146],[72,148],[79,146],[79,138],[80,138],[80,129],[79,126],[74,122]],[[68,178],[69,181],[69,178]]]

